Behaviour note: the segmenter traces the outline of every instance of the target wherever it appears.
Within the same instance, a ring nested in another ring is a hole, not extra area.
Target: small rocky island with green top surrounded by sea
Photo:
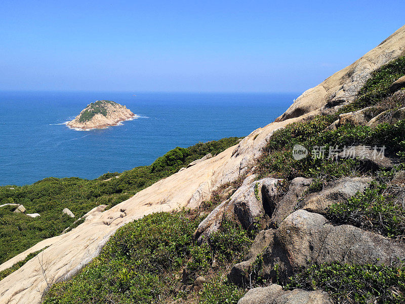
[[[97,100],[87,105],[76,118],[66,125],[78,129],[100,129],[116,126],[118,123],[135,117],[125,105],[110,100]]]

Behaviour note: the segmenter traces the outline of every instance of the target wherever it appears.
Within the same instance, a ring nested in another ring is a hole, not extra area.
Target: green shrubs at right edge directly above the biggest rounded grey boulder
[[[375,183],[364,194],[333,205],[327,216],[334,221],[402,239],[405,236],[405,210],[402,200],[396,199],[397,194],[392,187]]]

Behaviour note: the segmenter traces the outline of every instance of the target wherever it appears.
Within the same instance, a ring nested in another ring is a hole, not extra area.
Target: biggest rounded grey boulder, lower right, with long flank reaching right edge
[[[405,247],[351,225],[334,226],[320,214],[297,210],[283,221],[277,240],[293,270],[312,263],[390,264],[405,256]]]

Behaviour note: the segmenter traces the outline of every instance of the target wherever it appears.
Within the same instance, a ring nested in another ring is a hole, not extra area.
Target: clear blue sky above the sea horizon
[[[403,0],[2,0],[0,90],[302,92],[404,12]]]

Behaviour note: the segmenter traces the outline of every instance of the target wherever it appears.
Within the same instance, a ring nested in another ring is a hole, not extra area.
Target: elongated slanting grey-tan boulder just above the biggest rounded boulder
[[[333,204],[345,202],[357,192],[362,193],[372,180],[371,177],[343,177],[330,182],[322,191],[309,194],[301,202],[301,209],[325,214]]]

